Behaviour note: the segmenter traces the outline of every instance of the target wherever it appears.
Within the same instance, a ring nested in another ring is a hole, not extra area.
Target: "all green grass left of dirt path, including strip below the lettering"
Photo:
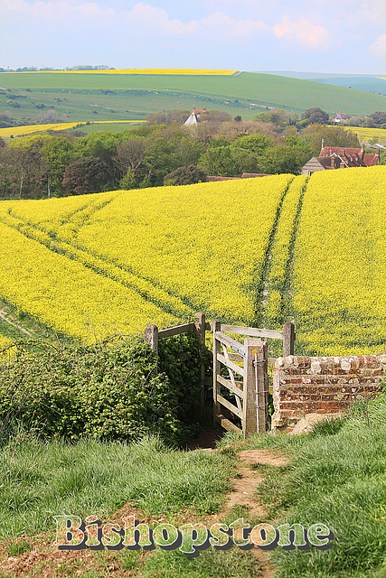
[[[220,508],[224,492],[231,489],[233,464],[234,456],[226,453],[175,451],[156,438],[130,445],[42,443],[33,433],[14,432],[0,450],[0,541],[12,538],[6,554],[23,555],[32,544],[47,541],[33,535],[48,532],[53,541],[53,516],[85,519],[96,514],[104,522],[127,502],[144,517],[161,515],[175,527],[186,516],[199,521]],[[147,523],[152,527],[156,522]],[[19,536],[32,537],[16,539]],[[114,575],[129,572],[138,578],[249,578],[259,570],[255,558],[237,547],[227,552],[210,548],[197,558],[159,547],[148,555],[142,550],[104,550],[88,559],[40,564],[33,572],[50,566],[54,576],[76,573],[88,578],[109,575],[112,567],[118,571]]]

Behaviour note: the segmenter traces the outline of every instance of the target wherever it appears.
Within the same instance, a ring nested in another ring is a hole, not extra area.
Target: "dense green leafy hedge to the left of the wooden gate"
[[[139,337],[110,346],[41,343],[38,352],[19,343],[14,361],[0,368],[0,423],[19,419],[47,437],[158,433],[175,443],[182,394],[155,369],[156,355]]]

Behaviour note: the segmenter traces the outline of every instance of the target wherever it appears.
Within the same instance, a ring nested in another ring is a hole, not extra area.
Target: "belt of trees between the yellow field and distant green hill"
[[[195,126],[184,126],[187,115],[156,113],[146,125],[116,134],[46,132],[7,144],[0,139],[0,198],[187,184],[242,172],[297,174],[319,153],[322,139],[330,146],[359,146],[344,127],[321,124],[325,117],[269,111],[243,121],[209,111]]]

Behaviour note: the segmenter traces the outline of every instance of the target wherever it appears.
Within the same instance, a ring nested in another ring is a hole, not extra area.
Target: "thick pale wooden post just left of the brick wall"
[[[268,368],[267,341],[247,338],[244,340],[244,402],[242,433],[244,438],[249,433],[266,432],[266,374]],[[256,384],[256,368],[254,361],[257,356],[258,383]]]

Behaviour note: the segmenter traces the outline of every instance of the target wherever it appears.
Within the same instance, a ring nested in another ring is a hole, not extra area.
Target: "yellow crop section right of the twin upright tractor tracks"
[[[324,355],[386,341],[386,167],[315,172],[297,231],[297,345]]]

